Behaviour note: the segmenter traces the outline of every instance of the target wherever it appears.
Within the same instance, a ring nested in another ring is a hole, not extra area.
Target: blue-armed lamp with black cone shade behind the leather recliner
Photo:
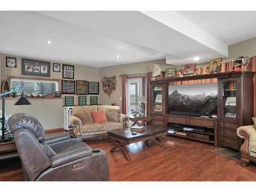
[[[10,138],[6,138],[5,137],[5,95],[11,94],[11,93],[22,93],[21,97],[17,100],[17,102],[14,103],[14,105],[27,105],[27,104],[31,104],[28,99],[25,97],[24,93],[23,93],[23,87],[22,86],[17,86],[14,90],[5,92],[0,94],[0,97],[2,98],[2,136],[1,136],[1,140],[0,141],[6,141],[9,140]]]

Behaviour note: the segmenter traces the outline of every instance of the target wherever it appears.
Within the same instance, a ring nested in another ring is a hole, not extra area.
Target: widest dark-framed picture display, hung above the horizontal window
[[[22,75],[50,77],[50,62],[22,59]]]

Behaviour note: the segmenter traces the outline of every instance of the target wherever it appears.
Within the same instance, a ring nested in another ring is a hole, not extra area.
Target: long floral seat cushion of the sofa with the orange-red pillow
[[[102,132],[123,129],[121,123],[105,122],[105,123],[90,123],[82,125],[82,133]]]

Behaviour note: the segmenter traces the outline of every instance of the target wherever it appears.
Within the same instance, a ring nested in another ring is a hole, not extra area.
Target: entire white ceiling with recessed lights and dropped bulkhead
[[[245,16],[215,11],[0,11],[0,52],[95,67],[202,63],[256,36],[255,14],[242,14],[242,23]]]

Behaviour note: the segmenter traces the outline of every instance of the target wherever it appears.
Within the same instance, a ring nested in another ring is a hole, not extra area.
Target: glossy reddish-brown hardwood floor
[[[127,146],[132,161],[126,161],[110,139],[89,141],[101,148],[109,158],[111,181],[256,181],[256,166],[242,167],[240,161],[217,154],[218,148],[204,142],[177,137],[162,138],[166,149],[156,140]],[[23,180],[20,160],[0,162],[0,181]]]

